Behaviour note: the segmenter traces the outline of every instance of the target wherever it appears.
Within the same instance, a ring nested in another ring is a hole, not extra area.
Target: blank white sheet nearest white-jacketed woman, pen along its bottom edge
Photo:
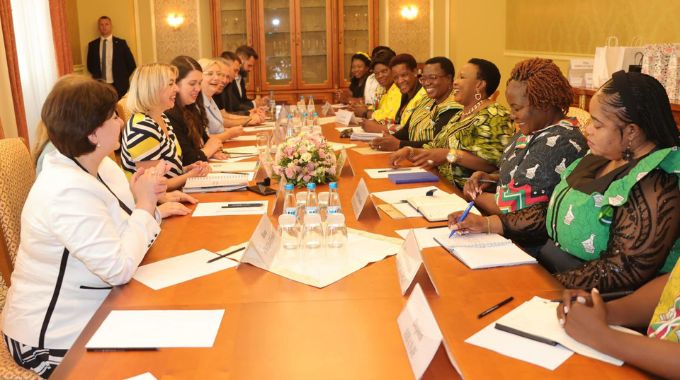
[[[85,347],[212,347],[223,316],[224,309],[112,310]]]

